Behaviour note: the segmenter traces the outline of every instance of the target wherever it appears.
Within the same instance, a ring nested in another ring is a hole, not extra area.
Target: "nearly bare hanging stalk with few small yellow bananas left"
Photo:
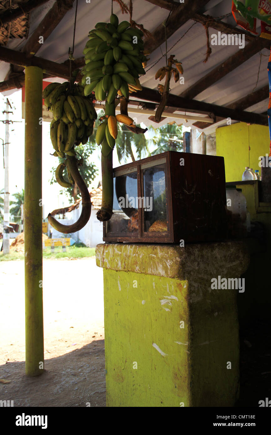
[[[175,64],[176,68],[174,68],[172,66],[173,64]],[[167,104],[167,98],[168,98],[168,94],[169,94],[169,90],[170,90],[169,85],[170,85],[171,76],[173,74],[175,83],[177,83],[177,81],[180,80],[179,73],[181,73],[181,74],[184,73],[182,64],[177,59],[174,59],[174,55],[171,55],[168,59],[167,67],[159,68],[159,70],[155,74],[155,80],[157,80],[159,78],[159,81],[161,81],[164,79],[164,77],[166,77],[164,85],[158,84],[158,86],[157,86],[162,97],[161,97],[160,104],[157,107],[156,112],[155,112],[154,120],[156,122],[161,121],[161,117],[162,117],[164,108]]]

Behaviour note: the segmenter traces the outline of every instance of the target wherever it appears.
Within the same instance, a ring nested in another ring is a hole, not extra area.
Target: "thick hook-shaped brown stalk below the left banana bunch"
[[[81,197],[82,197],[82,211],[80,218],[77,222],[71,225],[63,225],[60,224],[59,221],[57,221],[50,213],[48,214],[48,222],[50,225],[52,225],[53,228],[55,228],[57,231],[60,231],[60,233],[64,234],[70,234],[75,233],[76,231],[81,230],[89,221],[90,213],[91,213],[91,202],[90,202],[90,194],[87,190],[87,186],[84,183],[83,178],[80,175],[80,172],[77,167],[77,160],[75,157],[68,157],[64,164],[67,166],[67,170],[70,172],[72,178],[74,179],[75,183],[77,184],[77,187],[80,191]],[[112,174],[113,175],[113,174]],[[113,198],[113,194],[112,194]]]

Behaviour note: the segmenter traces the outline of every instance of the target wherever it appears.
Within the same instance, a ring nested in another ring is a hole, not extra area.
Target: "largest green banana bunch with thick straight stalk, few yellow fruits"
[[[131,92],[142,90],[139,76],[145,74],[143,65],[147,57],[143,52],[143,32],[130,27],[128,21],[119,23],[112,14],[110,23],[97,23],[90,30],[89,40],[83,50],[85,67],[82,71],[84,95],[93,91],[98,101],[105,101],[105,116],[97,128],[96,142],[101,147],[103,198],[97,212],[99,221],[108,221],[113,214],[112,153],[117,139],[117,122],[127,125],[134,132],[134,120],[128,114],[115,114],[117,95],[128,98]]]

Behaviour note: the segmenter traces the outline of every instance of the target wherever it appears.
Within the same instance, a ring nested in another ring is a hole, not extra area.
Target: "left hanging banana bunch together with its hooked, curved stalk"
[[[67,157],[64,163],[57,166],[56,180],[62,187],[72,187],[76,183],[82,196],[82,213],[75,224],[60,224],[50,214],[48,221],[60,232],[73,233],[84,227],[90,218],[91,211],[90,195],[78,171],[82,159],[75,158],[78,153],[74,147],[87,143],[93,134],[97,113],[91,97],[84,95],[84,87],[72,84],[72,82],[50,83],[43,90],[42,97],[45,106],[54,116],[50,125],[50,138],[55,150],[53,155],[61,158]],[[67,167],[68,180],[65,180],[63,176],[65,167]]]

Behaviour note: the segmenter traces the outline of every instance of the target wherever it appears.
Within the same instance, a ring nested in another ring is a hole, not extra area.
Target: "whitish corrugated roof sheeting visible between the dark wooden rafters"
[[[124,3],[128,4],[129,2],[124,0]],[[176,3],[179,2],[177,1]],[[30,13],[30,31],[28,37],[31,36],[33,30],[38,26],[53,4],[54,0],[51,0]],[[38,57],[43,57],[59,63],[67,60],[68,50],[69,47],[72,46],[73,40],[74,11],[75,8],[73,7],[72,10],[67,12],[63,20],[61,20],[60,24],[51,33],[50,37],[44,42],[43,46],[37,52]],[[236,25],[234,18],[231,15],[231,0],[211,0],[209,3],[207,3],[203,12],[211,15],[214,18],[221,17],[220,19],[225,23],[229,23],[233,26]],[[99,21],[109,21],[110,13],[111,2],[109,0],[91,1],[90,3],[86,3],[86,1],[83,0],[78,1],[74,48],[75,58],[82,56],[82,51],[87,41],[88,31],[92,29],[95,23]],[[121,13],[116,2],[114,2],[114,13],[117,14],[119,20],[129,20],[128,15]],[[152,3],[149,3],[146,0],[134,0],[133,2],[133,20],[135,20],[137,23],[142,23],[150,32],[152,32],[162,21],[167,18],[168,13],[168,10],[154,6]],[[188,30],[193,23],[193,20],[188,20],[187,23],[177,30],[177,32],[175,32],[167,41],[167,46],[169,48],[174,46],[174,48],[169,51],[169,54],[174,54],[175,57],[182,62],[184,68],[184,84],[180,84],[179,82],[175,83],[173,79],[171,80],[171,92],[173,94],[181,94],[181,92],[186,90],[197,80],[200,80],[201,77],[204,77],[208,72],[214,69],[214,67],[227,60],[229,56],[238,50],[238,47],[236,46],[211,46],[211,56],[209,57],[207,63],[204,63],[203,60],[207,50],[205,28],[201,23],[195,23],[195,25]],[[257,24],[259,23],[257,22]],[[260,30],[259,27],[257,27],[257,30]],[[185,32],[187,32],[187,34],[180,40]],[[211,34],[217,34],[217,30],[209,28],[209,33],[211,38]],[[14,50],[20,50],[24,44],[25,40],[10,40],[7,44],[7,47]],[[160,59],[162,54],[165,54],[165,44],[162,44],[161,47],[157,48],[157,50],[155,50],[149,56],[150,60],[146,67],[147,74],[142,76],[140,79],[142,85],[152,89],[157,88],[159,80],[155,80],[154,76],[160,67],[165,66],[165,57]],[[214,83],[201,94],[197,95],[195,100],[227,106],[228,104],[239,100],[241,97],[251,94],[251,92],[254,90],[257,90],[268,84],[267,63],[269,52],[267,49],[263,49],[261,50],[261,54],[262,56],[259,53],[255,54],[240,67],[236,68],[230,74],[227,74],[224,78]],[[155,64],[156,62],[157,64]],[[8,70],[9,64],[0,62],[1,81],[5,79]],[[60,79],[59,81],[62,80]],[[261,101],[260,103],[255,104],[253,107],[250,107],[246,110],[262,113],[267,110],[267,106],[268,95],[266,100]],[[183,114],[184,112],[176,113]],[[186,112],[186,114],[189,115],[189,112]],[[204,117],[205,115],[200,116]],[[172,120],[174,120],[174,118],[167,118],[160,124],[155,124],[148,119],[147,115],[137,115],[138,123],[144,122],[144,124],[147,126],[152,124],[154,127],[157,127],[158,125],[163,125]],[[177,124],[182,123],[186,127],[189,127],[194,121],[184,123],[183,120],[176,119],[176,122]],[[221,121],[219,124],[215,124],[215,127],[224,123],[225,121]],[[211,131],[214,131],[214,126],[210,124],[210,127],[205,129],[204,132],[208,133]]]

